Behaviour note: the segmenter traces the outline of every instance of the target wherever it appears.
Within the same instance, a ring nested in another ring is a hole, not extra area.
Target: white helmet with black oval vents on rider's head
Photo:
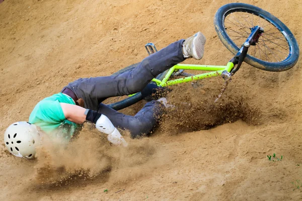
[[[36,154],[35,148],[40,145],[40,134],[36,125],[16,122],[5,131],[4,143],[15,156],[32,159]]]

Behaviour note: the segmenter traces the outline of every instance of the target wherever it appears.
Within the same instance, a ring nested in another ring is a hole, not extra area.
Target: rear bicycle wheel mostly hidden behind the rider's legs
[[[121,73],[124,73],[124,72],[127,72],[127,71],[131,71],[133,68],[136,68],[138,66],[138,64],[139,63],[135,63],[135,64],[132,64],[130,66],[127,66],[127,67],[113,73],[112,75],[118,75],[118,74],[121,74]],[[159,79],[159,80],[162,80],[165,77],[167,72],[168,72],[168,70],[166,70],[165,72],[162,72],[156,78]],[[124,108],[127,108],[127,107],[139,102],[141,99],[142,99],[141,93],[138,92],[135,95],[129,96],[129,97],[123,99],[123,100],[120,100],[119,102],[109,104],[107,106],[109,106],[110,108],[118,111],[118,110],[122,110]]]

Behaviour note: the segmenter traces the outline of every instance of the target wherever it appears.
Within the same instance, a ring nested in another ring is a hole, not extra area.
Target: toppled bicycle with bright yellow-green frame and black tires
[[[258,21],[254,20],[255,17],[259,18]],[[256,6],[243,3],[226,4],[217,10],[214,25],[220,41],[235,55],[225,66],[177,64],[159,74],[152,82],[159,86],[170,86],[221,75],[225,79],[226,87],[243,61],[256,68],[276,72],[292,68],[298,60],[299,47],[291,31],[276,17]],[[146,44],[145,49],[148,54],[157,51],[152,43]],[[132,70],[138,64],[130,65],[112,75]],[[185,73],[184,70],[209,72],[191,75]],[[169,80],[172,75],[183,75],[185,77]],[[108,106],[114,110],[121,110],[141,99],[142,96],[138,92]]]

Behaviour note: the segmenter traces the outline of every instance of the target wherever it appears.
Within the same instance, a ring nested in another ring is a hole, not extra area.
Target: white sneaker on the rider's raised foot
[[[183,43],[183,55],[185,58],[193,57],[194,59],[201,59],[204,53],[204,44],[206,38],[201,33],[198,32],[193,36],[187,38]]]

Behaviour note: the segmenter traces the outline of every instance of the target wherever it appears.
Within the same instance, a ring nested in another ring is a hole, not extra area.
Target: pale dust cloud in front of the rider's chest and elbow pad
[[[111,145],[89,123],[70,142],[43,136],[43,145],[37,150],[35,180],[42,185],[68,185],[94,179],[100,175],[122,182],[146,175],[168,158],[152,139],[133,140],[123,131],[128,147]]]

